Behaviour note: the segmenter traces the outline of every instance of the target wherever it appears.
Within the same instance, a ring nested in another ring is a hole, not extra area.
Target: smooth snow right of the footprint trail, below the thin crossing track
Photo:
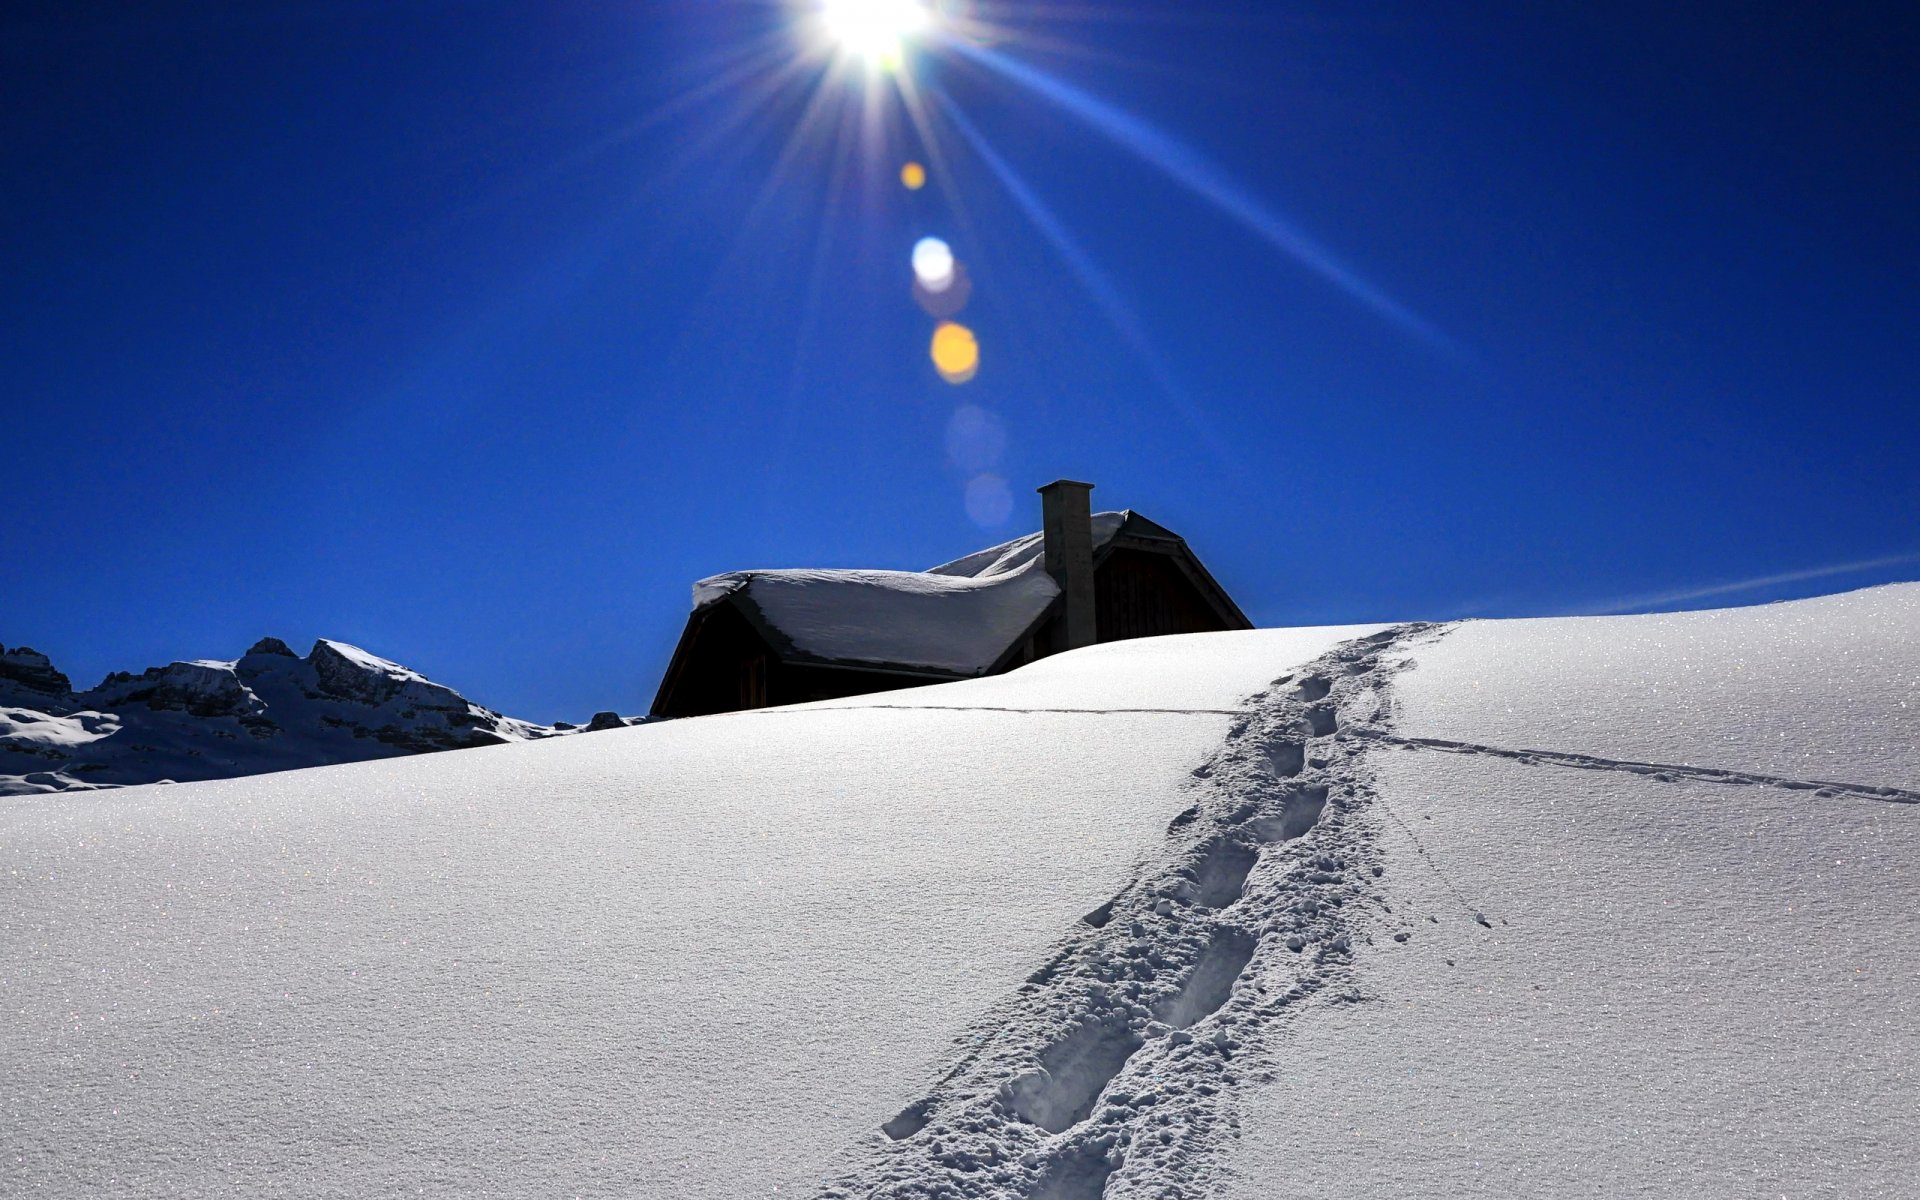
[[[1219,1196],[1912,1194],[1920,810],[1436,753],[1377,785],[1367,1000],[1294,1018]]]

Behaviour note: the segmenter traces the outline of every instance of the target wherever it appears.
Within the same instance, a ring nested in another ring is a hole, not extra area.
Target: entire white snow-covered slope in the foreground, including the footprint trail
[[[1897,1196],[1920,586],[0,806],[10,1196]]]

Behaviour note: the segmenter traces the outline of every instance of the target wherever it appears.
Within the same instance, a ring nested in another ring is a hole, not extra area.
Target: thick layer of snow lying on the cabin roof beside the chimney
[[[1096,513],[1098,551],[1131,513]],[[693,609],[733,597],[793,653],[972,676],[1021,637],[1060,595],[1041,534],[927,570],[733,570],[693,586]],[[783,647],[783,649],[787,649]]]

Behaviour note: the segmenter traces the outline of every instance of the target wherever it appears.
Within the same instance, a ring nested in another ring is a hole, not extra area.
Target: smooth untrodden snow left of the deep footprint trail
[[[804,1188],[1114,895],[1225,710],[1354,632],[17,799],[0,1192]],[[1000,710],[1156,695],[1200,710]]]

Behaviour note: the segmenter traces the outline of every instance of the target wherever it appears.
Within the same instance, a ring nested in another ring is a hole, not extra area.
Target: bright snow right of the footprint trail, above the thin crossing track
[[[1920,584],[1789,605],[1469,622],[1398,732],[1920,789]]]

